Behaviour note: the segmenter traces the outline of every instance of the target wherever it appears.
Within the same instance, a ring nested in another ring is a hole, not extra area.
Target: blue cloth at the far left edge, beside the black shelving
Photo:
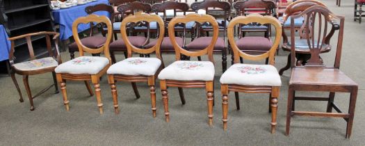
[[[5,27],[0,25],[0,61],[9,59],[11,43],[8,40],[8,33],[5,31]]]

